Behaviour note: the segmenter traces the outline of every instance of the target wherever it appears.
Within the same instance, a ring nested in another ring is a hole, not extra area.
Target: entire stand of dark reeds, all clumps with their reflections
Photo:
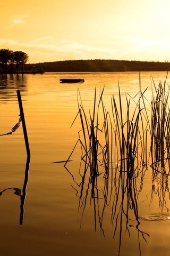
[[[165,160],[169,163],[168,160],[170,159],[169,87],[166,86],[166,82],[164,84],[159,83],[158,87],[154,84],[150,109],[146,107],[148,99],[145,97],[145,93],[147,90],[148,88],[143,92],[141,91],[139,77],[139,92],[135,97],[132,98],[126,94],[122,98],[118,85],[118,97],[113,95],[111,113],[109,113],[104,105],[104,88],[100,92],[98,101],[95,89],[93,109],[92,111],[89,110],[88,114],[83,107],[81,94],[78,90],[78,114],[75,119],[80,118],[81,131],[75,147],[80,143],[80,184],[75,182],[73,175],[72,177],[73,188],[79,197],[79,211],[82,210],[81,220],[87,203],[90,203],[90,207],[93,204],[95,230],[97,223],[99,223],[104,234],[105,210],[106,207],[111,207],[113,236],[115,236],[117,229],[120,229],[119,253],[123,230],[128,231],[130,235],[128,225],[130,219],[136,221],[135,227],[143,239],[146,240],[145,236],[148,236],[139,228],[138,212],[138,197],[142,190],[148,164],[150,163],[153,172],[152,182],[156,180],[160,166],[163,174],[169,174],[165,168]],[[150,145],[148,145],[149,142]],[[150,150],[147,151],[147,148]],[[65,167],[70,161],[73,151],[67,159]],[[83,168],[81,168],[82,165]],[[170,164],[168,170],[170,170]],[[166,191],[168,191],[167,182]],[[162,197],[159,196],[160,198]],[[166,204],[159,202],[159,205]],[[125,223],[124,229],[123,223]]]

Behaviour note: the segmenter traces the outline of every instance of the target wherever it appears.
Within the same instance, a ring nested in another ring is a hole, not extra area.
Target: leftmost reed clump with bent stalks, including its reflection
[[[105,198],[107,198],[108,196],[107,190],[109,186],[107,181],[109,177],[110,165],[110,138],[112,141],[112,135],[110,137],[110,134],[112,134],[112,132],[109,132],[110,130],[112,130],[111,118],[109,117],[109,114],[104,106],[103,93],[104,88],[103,90],[101,90],[99,100],[97,102],[97,95],[95,89],[93,109],[92,111],[89,110],[89,115],[87,115],[83,107],[80,91],[78,90],[78,114],[75,116],[72,123],[73,125],[75,120],[78,117],[80,118],[81,130],[79,131],[79,139],[75,144],[75,147],[77,147],[78,143],[80,143],[81,161],[79,167],[79,174],[81,175],[81,182],[80,184],[74,182],[74,185],[77,186],[79,189],[78,193],[78,189],[74,187],[74,189],[77,191],[77,195],[79,196],[79,211],[82,211],[81,214],[83,217],[84,210],[90,194],[90,206],[92,204],[94,205],[95,212],[95,230],[97,227],[97,222],[99,222],[101,231],[103,231],[103,228],[101,223],[102,214],[100,214],[99,211],[99,198],[103,197],[103,195]],[[99,118],[99,115],[103,115],[103,118]],[[99,119],[101,124],[99,124]],[[103,121],[101,121],[101,119],[103,119]],[[75,147],[73,148],[69,158],[67,159],[64,165],[65,167],[67,162],[70,161],[70,157],[72,156]],[[98,189],[99,177],[103,177],[105,180],[104,188],[100,190],[100,193]],[[75,181],[74,178],[73,180]],[[105,200],[105,202],[106,201],[107,199]]]

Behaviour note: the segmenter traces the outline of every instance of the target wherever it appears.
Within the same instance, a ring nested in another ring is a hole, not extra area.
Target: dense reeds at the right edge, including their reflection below
[[[170,109],[169,109],[169,86],[165,82],[159,82],[158,86],[153,81],[151,100],[151,170],[152,188],[151,201],[154,195],[158,198],[160,212],[169,211],[170,198],[168,176],[170,175]]]

